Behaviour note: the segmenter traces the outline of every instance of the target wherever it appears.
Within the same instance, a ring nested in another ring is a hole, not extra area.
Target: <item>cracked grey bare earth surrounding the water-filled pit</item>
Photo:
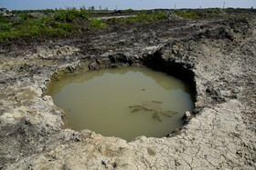
[[[0,169],[255,169],[254,23],[166,21],[42,45],[2,45]],[[63,111],[43,95],[58,70],[158,64],[176,75],[190,70],[196,82],[195,116],[168,137],[127,143],[63,129]]]

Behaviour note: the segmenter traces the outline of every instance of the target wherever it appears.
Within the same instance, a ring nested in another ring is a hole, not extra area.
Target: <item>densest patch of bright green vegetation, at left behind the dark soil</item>
[[[3,15],[0,16],[0,42],[19,37],[69,35],[75,31],[70,22],[76,19],[87,22],[89,17],[85,11],[72,9],[59,10],[53,16],[48,15],[38,19],[24,12],[19,14],[19,18],[18,21],[12,21]]]

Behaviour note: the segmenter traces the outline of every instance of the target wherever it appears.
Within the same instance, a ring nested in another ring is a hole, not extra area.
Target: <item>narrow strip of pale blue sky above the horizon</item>
[[[55,7],[87,8],[94,5],[96,9],[108,7],[109,9],[153,9],[153,8],[208,8],[208,7],[240,7],[256,8],[256,0],[0,0],[0,8],[8,9],[46,9]]]

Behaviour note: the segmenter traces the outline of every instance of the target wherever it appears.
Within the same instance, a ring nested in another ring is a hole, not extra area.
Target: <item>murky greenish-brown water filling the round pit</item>
[[[91,71],[53,82],[48,95],[63,108],[68,126],[105,136],[162,137],[180,127],[193,102],[188,85],[146,67]]]

